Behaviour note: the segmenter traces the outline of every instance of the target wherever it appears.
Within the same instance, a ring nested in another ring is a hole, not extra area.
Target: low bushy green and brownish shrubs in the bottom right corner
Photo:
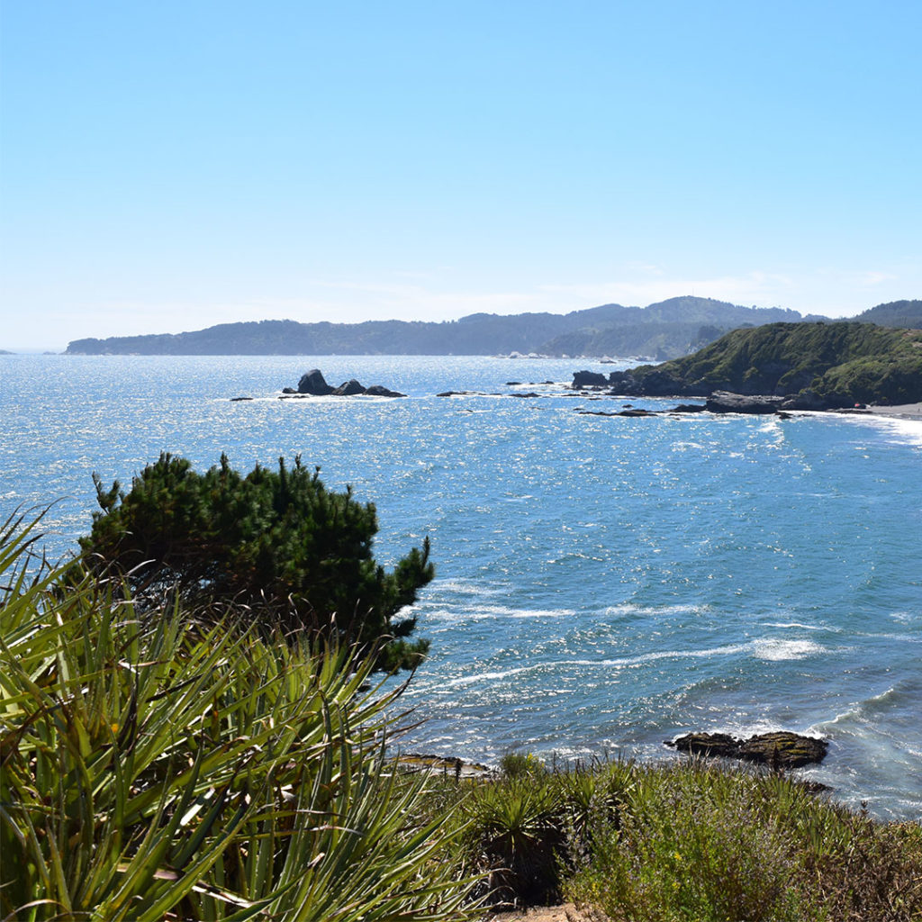
[[[683,762],[635,767],[620,823],[597,823],[565,892],[613,922],[910,922],[922,827],[882,824],[788,778]]]

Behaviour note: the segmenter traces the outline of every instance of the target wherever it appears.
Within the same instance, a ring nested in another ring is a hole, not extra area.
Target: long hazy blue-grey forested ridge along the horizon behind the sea
[[[301,324],[264,320],[189,333],[77,339],[68,355],[684,355],[739,325],[800,320],[796,311],[672,298],[645,308],[604,304],[571,313],[472,313],[443,323]]]

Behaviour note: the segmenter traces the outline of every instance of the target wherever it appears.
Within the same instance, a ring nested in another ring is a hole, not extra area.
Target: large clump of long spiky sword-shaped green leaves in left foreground
[[[398,777],[372,663],[21,565],[0,526],[0,917],[460,920],[451,810]],[[467,908],[465,908],[467,906]]]

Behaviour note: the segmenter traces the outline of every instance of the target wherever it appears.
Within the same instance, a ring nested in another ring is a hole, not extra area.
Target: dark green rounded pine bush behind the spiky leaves
[[[301,458],[245,477],[226,456],[205,474],[169,454],[141,472],[130,491],[94,475],[101,512],[80,539],[88,565],[113,570],[138,599],[159,603],[178,587],[186,606],[233,601],[270,630],[307,632],[376,654],[379,668],[413,668],[425,641],[416,621],[395,620],[432,578],[429,542],[385,573],[372,557],[372,503],[327,491]]]

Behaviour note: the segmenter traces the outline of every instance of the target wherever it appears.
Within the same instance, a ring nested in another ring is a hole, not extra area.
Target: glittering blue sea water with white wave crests
[[[279,399],[313,367],[408,397]],[[600,416],[629,401],[565,386],[623,367],[2,356],[0,514],[54,501],[56,557],[89,530],[93,471],[300,454],[375,503],[380,561],[431,538],[405,748],[668,759],[689,730],[794,730],[830,740],[804,774],[835,798],[922,815],[922,423]]]

